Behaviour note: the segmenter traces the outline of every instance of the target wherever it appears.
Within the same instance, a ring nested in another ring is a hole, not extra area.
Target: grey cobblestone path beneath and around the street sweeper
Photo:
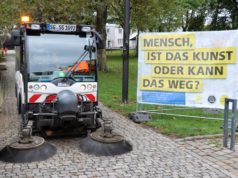
[[[6,140],[16,136],[19,128],[11,71],[13,64],[13,55],[10,55],[8,71],[3,77],[7,93],[0,122],[7,123],[3,124],[6,132],[1,132],[1,138],[5,138],[0,140],[1,147],[9,142]],[[0,177],[235,177],[223,166],[183,148],[181,144],[142,128],[104,106],[101,108],[105,117],[113,118],[117,131],[133,145],[133,151],[114,157],[96,157],[79,150],[81,138],[55,138],[48,140],[57,147],[57,154],[52,158],[24,164],[0,162]]]

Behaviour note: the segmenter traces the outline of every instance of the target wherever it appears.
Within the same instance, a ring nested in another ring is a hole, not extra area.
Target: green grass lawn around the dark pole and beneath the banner
[[[122,51],[108,51],[109,72],[99,73],[99,100],[112,110],[123,114],[136,110],[137,90],[137,58],[134,51],[130,51],[129,59],[129,103],[123,104],[121,99],[122,91]],[[143,109],[165,109],[173,106],[146,105]],[[209,116],[222,118],[223,114],[205,113],[203,109],[187,109],[176,111],[163,111],[183,115]],[[195,135],[208,135],[222,133],[220,126],[222,121],[185,118],[167,115],[152,115],[152,120],[145,123],[156,128],[160,133],[175,137],[187,137]]]

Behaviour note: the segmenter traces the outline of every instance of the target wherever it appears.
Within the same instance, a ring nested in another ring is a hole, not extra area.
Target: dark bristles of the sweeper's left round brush
[[[56,148],[47,142],[39,147],[24,150],[6,146],[0,151],[0,160],[10,163],[29,163],[46,160],[55,153]]]

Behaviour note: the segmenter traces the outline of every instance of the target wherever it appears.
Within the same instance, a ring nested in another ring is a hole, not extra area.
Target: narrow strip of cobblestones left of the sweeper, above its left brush
[[[15,56],[12,51],[8,55],[7,70],[1,71],[0,75],[0,97],[3,97],[3,103],[0,113],[0,148],[10,143],[12,139],[18,136],[20,128],[20,118],[16,111],[15,98]],[[0,99],[1,100],[1,99]]]

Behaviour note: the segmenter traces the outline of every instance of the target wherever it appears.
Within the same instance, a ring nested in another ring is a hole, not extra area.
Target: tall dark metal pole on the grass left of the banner
[[[122,102],[128,103],[130,0],[124,0]]]

